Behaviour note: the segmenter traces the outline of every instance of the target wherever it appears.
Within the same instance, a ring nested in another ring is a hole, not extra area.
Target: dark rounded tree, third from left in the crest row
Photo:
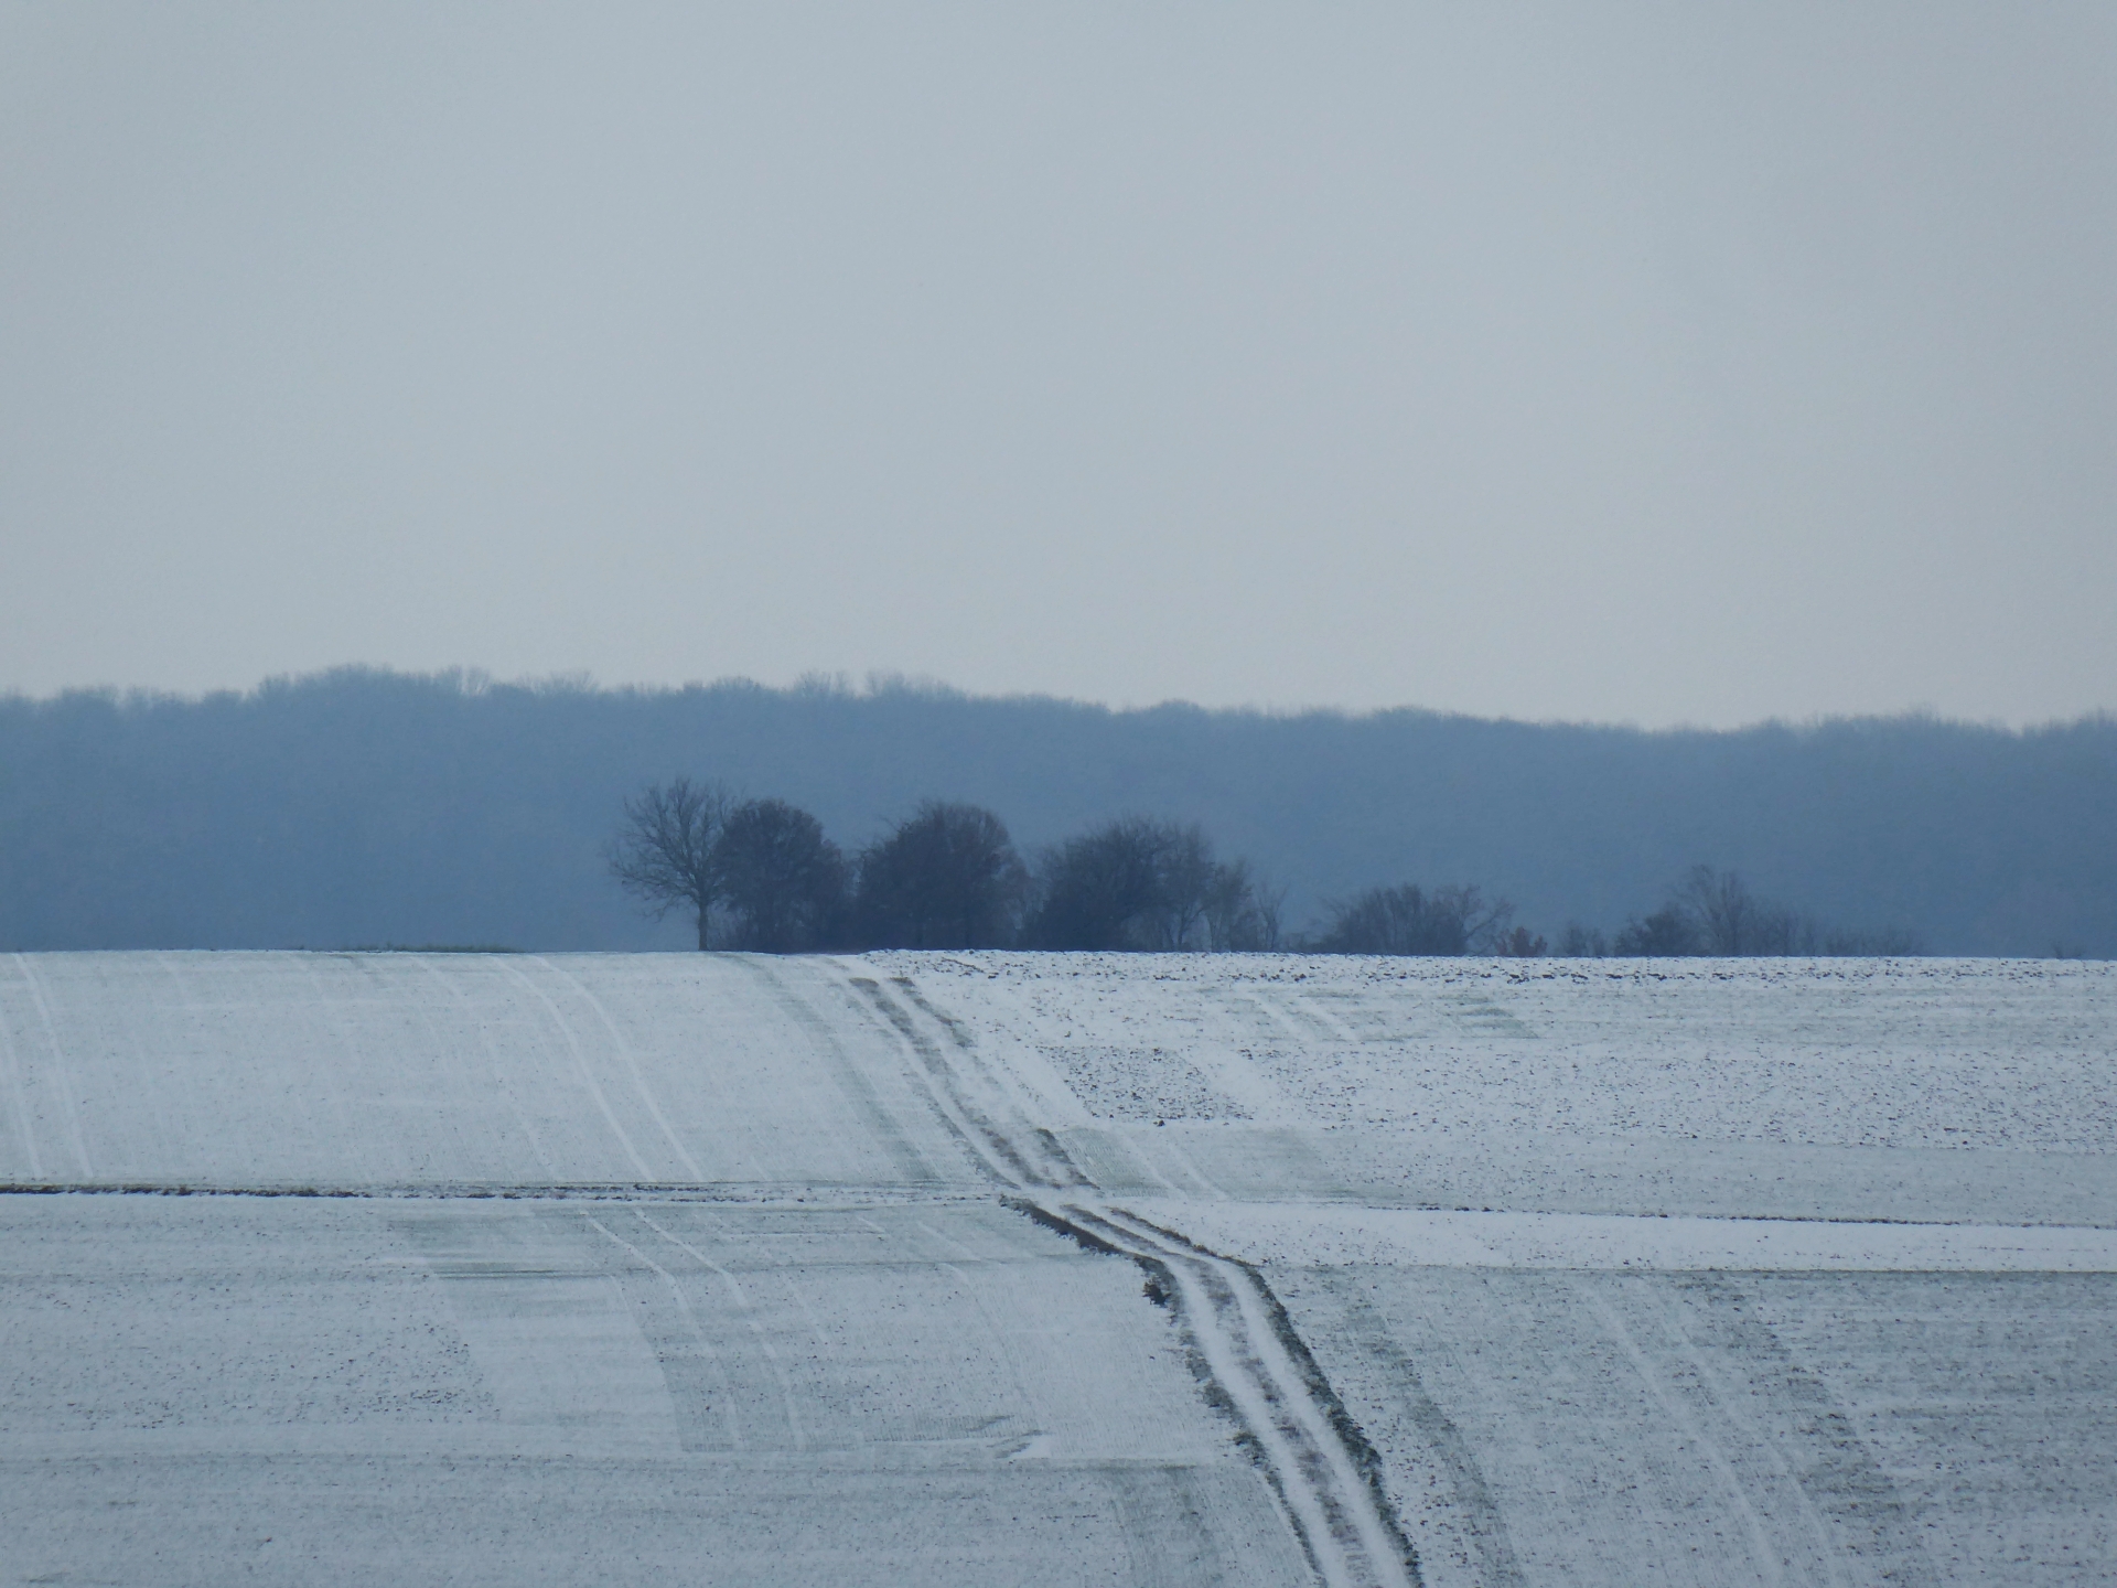
[[[857,934],[876,949],[997,949],[1014,940],[1029,868],[1006,824],[927,800],[860,855]]]

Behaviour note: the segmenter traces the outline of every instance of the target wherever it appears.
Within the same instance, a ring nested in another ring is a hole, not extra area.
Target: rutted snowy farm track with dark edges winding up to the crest
[[[847,980],[919,1059],[936,1109],[1010,1192],[1008,1207],[1145,1268],[1147,1294],[1173,1311],[1207,1400],[1234,1421],[1317,1577],[1327,1588],[1418,1588],[1380,1457],[1264,1275],[1103,1198],[1054,1133],[1016,1122],[1008,1088],[972,1035],[908,978],[895,978],[904,1001],[872,976]],[[921,1027],[921,1014],[944,1040]]]

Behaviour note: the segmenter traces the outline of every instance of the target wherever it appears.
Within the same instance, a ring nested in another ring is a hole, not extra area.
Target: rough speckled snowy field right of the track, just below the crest
[[[902,963],[989,1040],[1058,1054],[1101,1120],[2117,1150],[2106,963]],[[1160,1099],[1154,1076],[1171,1078]],[[1217,1088],[1217,1109],[1202,1086]]]

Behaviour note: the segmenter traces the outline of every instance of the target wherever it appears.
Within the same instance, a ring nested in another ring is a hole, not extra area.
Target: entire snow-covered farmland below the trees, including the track
[[[2111,1580],[2111,966],[0,957],[0,1584]]]

